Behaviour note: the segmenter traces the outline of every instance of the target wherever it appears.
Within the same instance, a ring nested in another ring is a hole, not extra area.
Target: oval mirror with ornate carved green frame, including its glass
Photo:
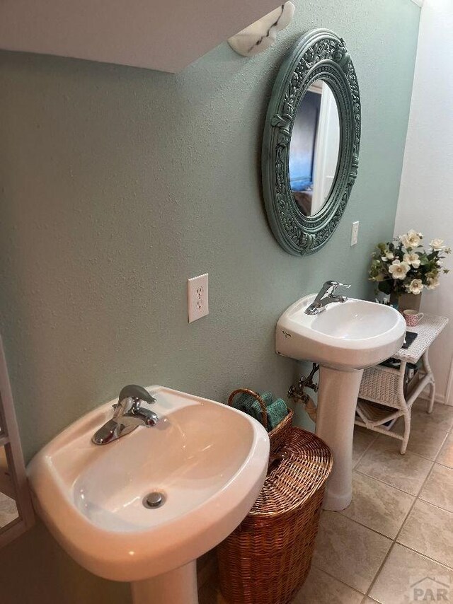
[[[360,94],[345,42],[312,30],[280,67],[263,137],[263,193],[287,252],[319,250],[332,236],[357,175]]]

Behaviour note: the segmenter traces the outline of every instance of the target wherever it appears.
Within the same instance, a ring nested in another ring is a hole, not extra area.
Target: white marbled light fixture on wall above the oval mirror
[[[243,57],[253,57],[273,45],[277,32],[285,29],[294,16],[294,4],[285,2],[264,17],[229,38],[233,50]]]

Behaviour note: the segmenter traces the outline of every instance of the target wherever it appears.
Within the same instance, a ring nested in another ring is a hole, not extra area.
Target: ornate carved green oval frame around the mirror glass
[[[340,146],[326,203],[314,216],[305,216],[289,186],[289,144],[299,103],[319,79],[328,83],[336,99]],[[345,42],[330,30],[311,30],[280,67],[263,137],[265,207],[275,238],[284,250],[293,255],[312,254],[332,236],[355,182],[359,146],[359,86]]]

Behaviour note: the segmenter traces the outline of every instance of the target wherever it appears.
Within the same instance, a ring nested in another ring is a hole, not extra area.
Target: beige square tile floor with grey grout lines
[[[358,428],[354,498],[324,511],[312,569],[294,604],[453,602],[453,407],[413,405],[400,441]],[[212,586],[200,604],[221,604]]]

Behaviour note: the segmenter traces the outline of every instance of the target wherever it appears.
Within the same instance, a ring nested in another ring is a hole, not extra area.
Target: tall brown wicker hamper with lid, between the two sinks
[[[255,505],[217,547],[220,589],[230,604],[287,604],[311,566],[332,456],[321,439],[290,431]]]

